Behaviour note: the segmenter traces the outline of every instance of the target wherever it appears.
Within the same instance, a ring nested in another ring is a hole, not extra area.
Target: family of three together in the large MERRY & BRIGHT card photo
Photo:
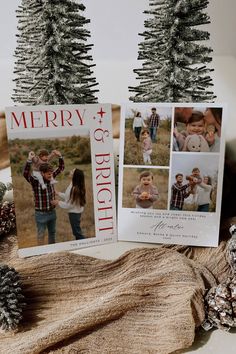
[[[56,169],[50,164],[53,158],[58,158]],[[44,235],[48,231],[48,243],[56,242],[56,206],[68,211],[72,233],[76,240],[83,239],[80,227],[81,214],[86,203],[85,178],[83,171],[74,169],[70,173],[71,183],[65,193],[56,192],[55,177],[64,170],[64,160],[58,150],[52,153],[46,149],[40,150],[38,156],[31,151],[26,161],[23,175],[31,184],[34,203],[35,221],[37,226],[38,244],[44,244]],[[62,200],[57,199],[61,198]]]

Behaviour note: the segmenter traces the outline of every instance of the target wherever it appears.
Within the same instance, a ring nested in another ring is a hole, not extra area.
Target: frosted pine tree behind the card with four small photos
[[[140,83],[130,87],[134,102],[210,102],[214,93],[208,67],[212,49],[202,41],[209,32],[201,25],[210,23],[204,12],[208,0],[150,0],[149,15],[141,34],[135,69]],[[199,26],[199,27],[198,27]]]

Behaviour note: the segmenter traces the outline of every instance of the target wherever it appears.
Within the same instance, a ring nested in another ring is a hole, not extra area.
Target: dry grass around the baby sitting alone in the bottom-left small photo
[[[166,169],[150,169],[153,173],[153,185],[158,189],[158,200],[153,204],[154,209],[167,209],[168,202],[168,178],[169,171]],[[123,200],[124,208],[135,208],[135,199],[132,195],[134,188],[139,184],[139,175],[146,168],[123,169]]]

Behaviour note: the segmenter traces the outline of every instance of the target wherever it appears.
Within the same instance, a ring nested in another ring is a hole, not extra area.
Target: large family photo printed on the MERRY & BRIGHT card
[[[94,237],[88,132],[13,139],[9,151],[19,248]]]

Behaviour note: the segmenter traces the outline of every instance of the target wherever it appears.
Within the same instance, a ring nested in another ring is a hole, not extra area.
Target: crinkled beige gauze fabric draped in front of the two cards
[[[204,250],[206,264],[212,257],[220,264],[212,271],[165,247],[134,249],[114,261],[70,252],[19,259],[9,237],[0,243],[0,261],[21,274],[27,306],[18,332],[0,333],[0,353],[164,354],[187,348],[204,319],[205,288],[228,271],[224,249],[223,242]]]

